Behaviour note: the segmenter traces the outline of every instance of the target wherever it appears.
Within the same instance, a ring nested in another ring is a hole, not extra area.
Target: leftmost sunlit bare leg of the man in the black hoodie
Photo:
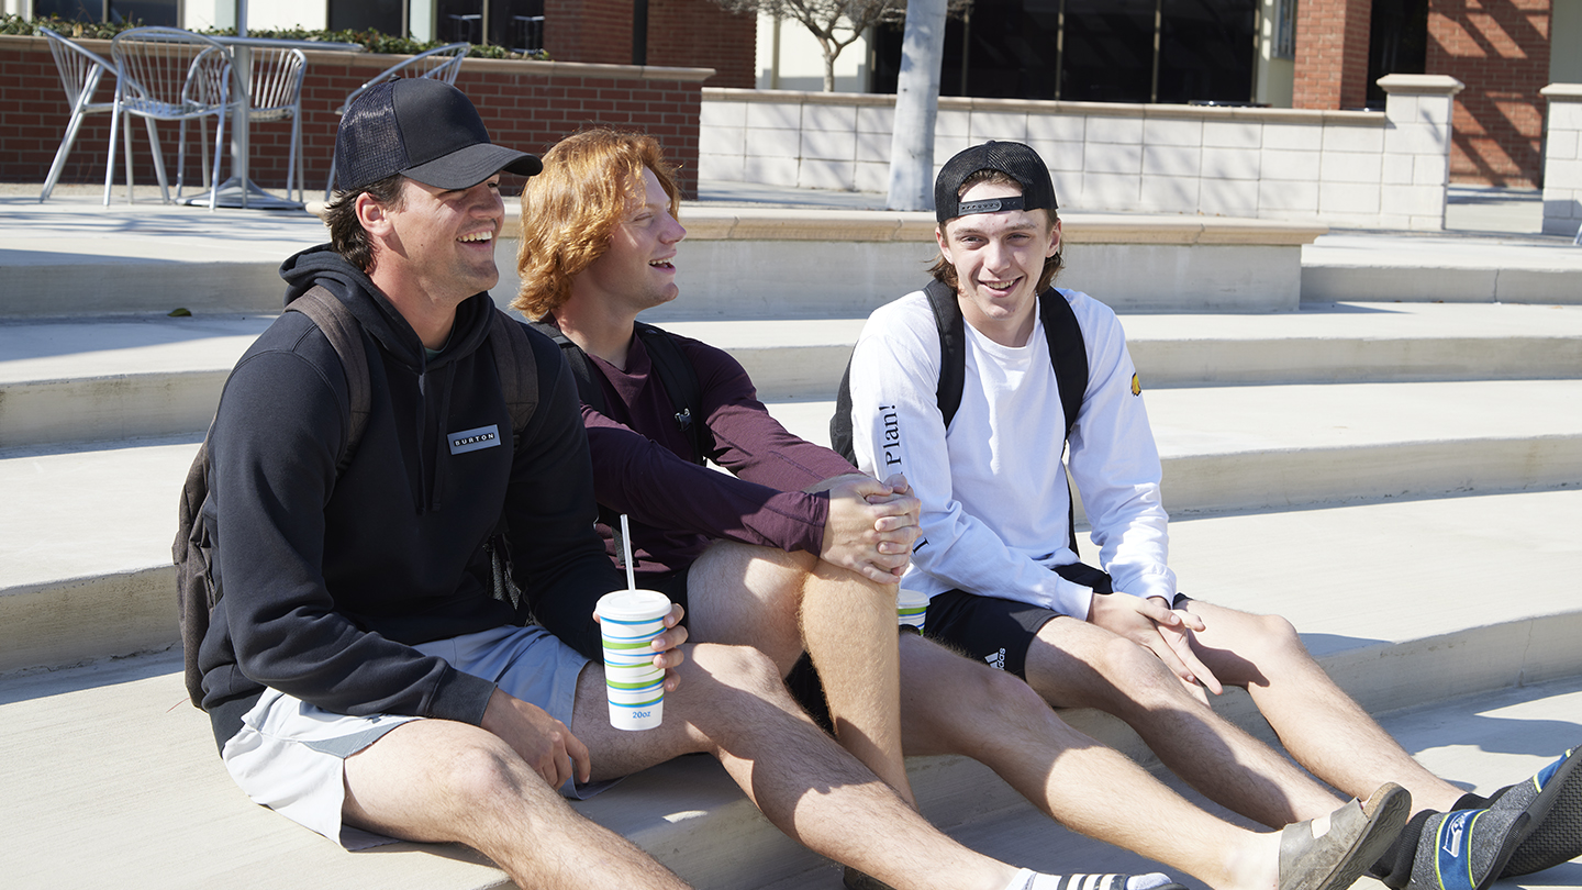
[[[495,735],[414,721],[346,759],[343,817],[408,841],[467,844],[517,887],[683,888],[630,841],[577,816]]]

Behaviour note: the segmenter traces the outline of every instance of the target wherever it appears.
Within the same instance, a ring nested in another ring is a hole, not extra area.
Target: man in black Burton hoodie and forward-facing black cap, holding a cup
[[[313,315],[288,310],[242,356],[209,440],[199,521],[223,597],[201,697],[236,782],[348,847],[456,841],[517,887],[674,890],[557,789],[704,751],[782,830],[895,885],[1039,879],[929,827],[761,652],[683,654],[679,608],[653,646],[663,725],[611,727],[603,667],[562,643],[589,649],[596,624],[555,608],[623,586],[593,529],[576,388],[560,350],[487,295],[498,171],[541,165],[427,79],[362,93],[335,150],[332,242],[282,269],[288,304]],[[365,367],[343,361],[351,342]],[[520,595],[497,583],[501,546]]]

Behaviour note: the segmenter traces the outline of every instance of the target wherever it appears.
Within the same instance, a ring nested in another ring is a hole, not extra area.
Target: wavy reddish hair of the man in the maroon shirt
[[[511,306],[528,318],[544,318],[571,298],[571,279],[609,249],[615,226],[642,203],[642,169],[649,168],[680,204],[676,168],[660,143],[642,133],[584,130],[544,152],[544,171],[522,188],[522,244],[516,271],[522,290]]]

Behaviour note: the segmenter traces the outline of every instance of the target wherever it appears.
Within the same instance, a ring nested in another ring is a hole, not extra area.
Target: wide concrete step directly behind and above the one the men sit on
[[[1582,380],[1342,383],[1147,394],[1175,516],[1582,485]],[[827,442],[832,402],[775,402]],[[196,439],[0,458],[0,670],[172,641],[176,499]],[[111,594],[111,591],[115,591]],[[114,610],[115,621],[97,621]],[[92,638],[84,633],[92,632]]]

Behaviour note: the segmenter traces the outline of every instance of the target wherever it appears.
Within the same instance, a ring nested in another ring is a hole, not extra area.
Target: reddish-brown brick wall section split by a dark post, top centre
[[[631,63],[631,0],[546,0],[551,59]],[[758,21],[712,0],[649,0],[649,65],[713,68],[712,87],[751,89]]]

